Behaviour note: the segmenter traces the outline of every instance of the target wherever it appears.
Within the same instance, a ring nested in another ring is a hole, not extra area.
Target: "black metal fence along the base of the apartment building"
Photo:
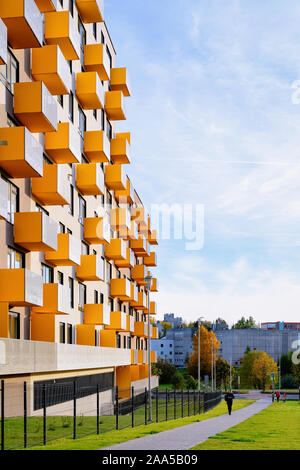
[[[192,416],[221,401],[221,392],[154,389],[150,402],[147,389],[103,392],[99,385],[80,388],[76,382],[45,383],[37,390],[34,384],[2,380],[0,387],[1,450]]]

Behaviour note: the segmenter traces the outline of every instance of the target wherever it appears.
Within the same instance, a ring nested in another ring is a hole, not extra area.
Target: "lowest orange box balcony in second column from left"
[[[44,284],[43,305],[32,309],[32,313],[54,315],[69,315],[70,311],[69,290],[61,284]]]

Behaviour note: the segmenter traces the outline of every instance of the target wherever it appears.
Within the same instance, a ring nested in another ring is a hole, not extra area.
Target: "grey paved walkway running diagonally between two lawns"
[[[188,450],[206,441],[210,436],[226,431],[226,429],[245,421],[267,408],[271,403],[270,398],[262,398],[246,408],[233,411],[231,416],[226,414],[210,418],[199,423],[151,434],[100,450]]]

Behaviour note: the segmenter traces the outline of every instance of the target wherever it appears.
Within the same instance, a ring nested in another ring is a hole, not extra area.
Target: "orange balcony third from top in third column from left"
[[[76,96],[83,109],[102,109],[104,88],[96,72],[76,74]]]

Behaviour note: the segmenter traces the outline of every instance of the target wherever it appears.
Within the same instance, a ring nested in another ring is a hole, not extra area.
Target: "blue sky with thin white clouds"
[[[105,0],[105,18],[137,192],[204,206],[201,250],[160,241],[158,318],[299,321],[299,3]]]

